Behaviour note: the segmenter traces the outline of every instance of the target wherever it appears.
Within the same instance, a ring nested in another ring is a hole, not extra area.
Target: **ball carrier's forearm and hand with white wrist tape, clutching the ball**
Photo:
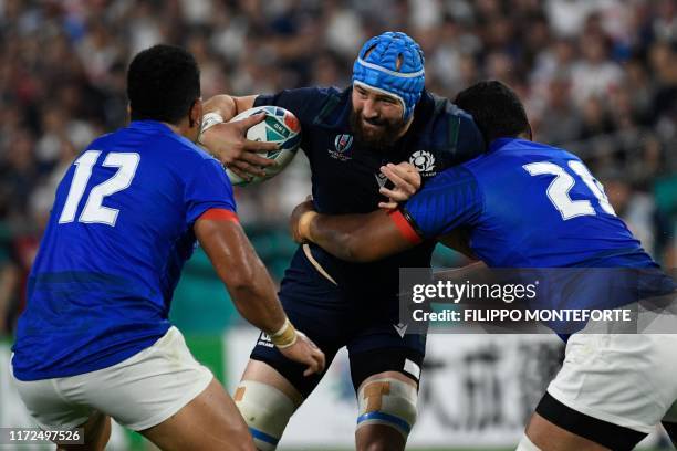
[[[243,179],[252,176],[263,177],[264,169],[275,164],[257,154],[275,150],[277,144],[247,139],[247,130],[262,122],[265,118],[264,114],[228,123],[238,114],[252,108],[256,98],[256,95],[233,97],[221,94],[209,98],[202,106],[205,115],[199,143]]]

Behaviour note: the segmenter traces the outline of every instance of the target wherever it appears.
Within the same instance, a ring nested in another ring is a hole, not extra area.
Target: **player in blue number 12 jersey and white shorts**
[[[14,384],[41,428],[84,428],[74,449],[104,449],[113,417],[164,450],[253,450],[232,399],[168,321],[196,239],[242,316],[287,358],[310,374],[324,356],[284,315],[222,166],[194,144],[192,55],[140,52],[127,94],[132,123],[87,146],[56,190],[17,328]],[[260,119],[227,134],[243,140]]]

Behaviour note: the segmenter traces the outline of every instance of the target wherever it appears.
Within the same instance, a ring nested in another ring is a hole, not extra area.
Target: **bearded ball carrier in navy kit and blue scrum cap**
[[[427,92],[424,74],[418,44],[404,33],[387,32],[364,44],[346,90],[217,96],[205,111],[220,115],[219,120],[259,105],[291,111],[301,122],[315,208],[333,214],[368,212],[389,206],[389,198],[417,181],[398,164],[415,165],[425,181],[485,151],[470,116]],[[206,130],[201,141],[238,175],[257,174],[256,166],[268,164],[220,143],[218,127]],[[404,183],[389,190],[384,174],[399,174]],[[347,347],[358,402],[358,450],[404,449],[416,420],[426,337],[405,335],[398,322],[398,269],[428,266],[434,245],[426,241],[378,262],[355,264],[305,244],[282,280],[279,295],[287,314],[327,361]],[[302,369],[264,335],[259,338],[235,396],[259,449],[277,447],[289,418],[320,381],[320,376],[303,377]]]

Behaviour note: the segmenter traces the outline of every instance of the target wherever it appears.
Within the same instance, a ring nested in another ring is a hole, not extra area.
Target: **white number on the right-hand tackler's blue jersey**
[[[575,185],[574,178],[561,166],[550,161],[531,162],[522,166],[527,172],[532,176],[551,175],[554,179],[548,186],[545,193],[552,202],[552,204],[560,211],[562,219],[566,221],[580,216],[595,214],[595,209],[590,203],[590,200],[572,200],[569,197],[569,191]],[[590,170],[581,161],[571,160],[569,167],[574,171],[576,176],[583,180],[585,186],[590,189],[597,201],[602,210],[608,214],[616,216],[614,208],[608,203],[608,199],[604,193],[604,188],[593,176]]]

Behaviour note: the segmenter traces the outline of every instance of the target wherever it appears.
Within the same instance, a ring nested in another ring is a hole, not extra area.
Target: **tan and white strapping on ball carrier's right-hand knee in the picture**
[[[395,428],[406,439],[416,422],[416,387],[399,379],[374,379],[360,388],[357,429],[367,424]]]

